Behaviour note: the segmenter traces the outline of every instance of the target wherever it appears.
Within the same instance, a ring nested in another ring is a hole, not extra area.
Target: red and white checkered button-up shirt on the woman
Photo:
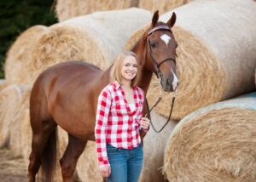
[[[139,122],[143,117],[143,89],[133,87],[133,97],[135,111],[131,111],[119,82],[108,84],[99,95],[95,136],[100,168],[109,165],[107,143],[122,149],[132,149],[141,143]]]

